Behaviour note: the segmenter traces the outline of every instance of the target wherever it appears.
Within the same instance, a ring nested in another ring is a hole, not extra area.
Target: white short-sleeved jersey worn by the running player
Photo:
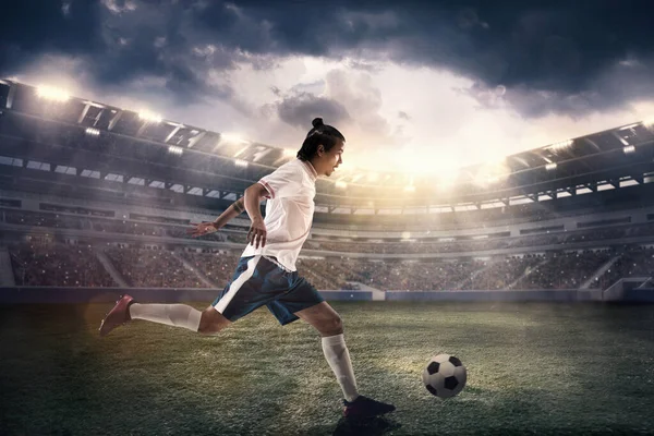
[[[295,261],[313,222],[317,177],[310,162],[293,159],[258,181],[268,191],[266,246],[255,249],[249,243],[241,257],[275,257],[283,268],[296,270]]]

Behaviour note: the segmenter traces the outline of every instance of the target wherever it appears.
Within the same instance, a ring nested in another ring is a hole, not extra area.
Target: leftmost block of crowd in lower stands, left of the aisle
[[[92,247],[51,242],[8,246],[17,286],[113,287]]]

